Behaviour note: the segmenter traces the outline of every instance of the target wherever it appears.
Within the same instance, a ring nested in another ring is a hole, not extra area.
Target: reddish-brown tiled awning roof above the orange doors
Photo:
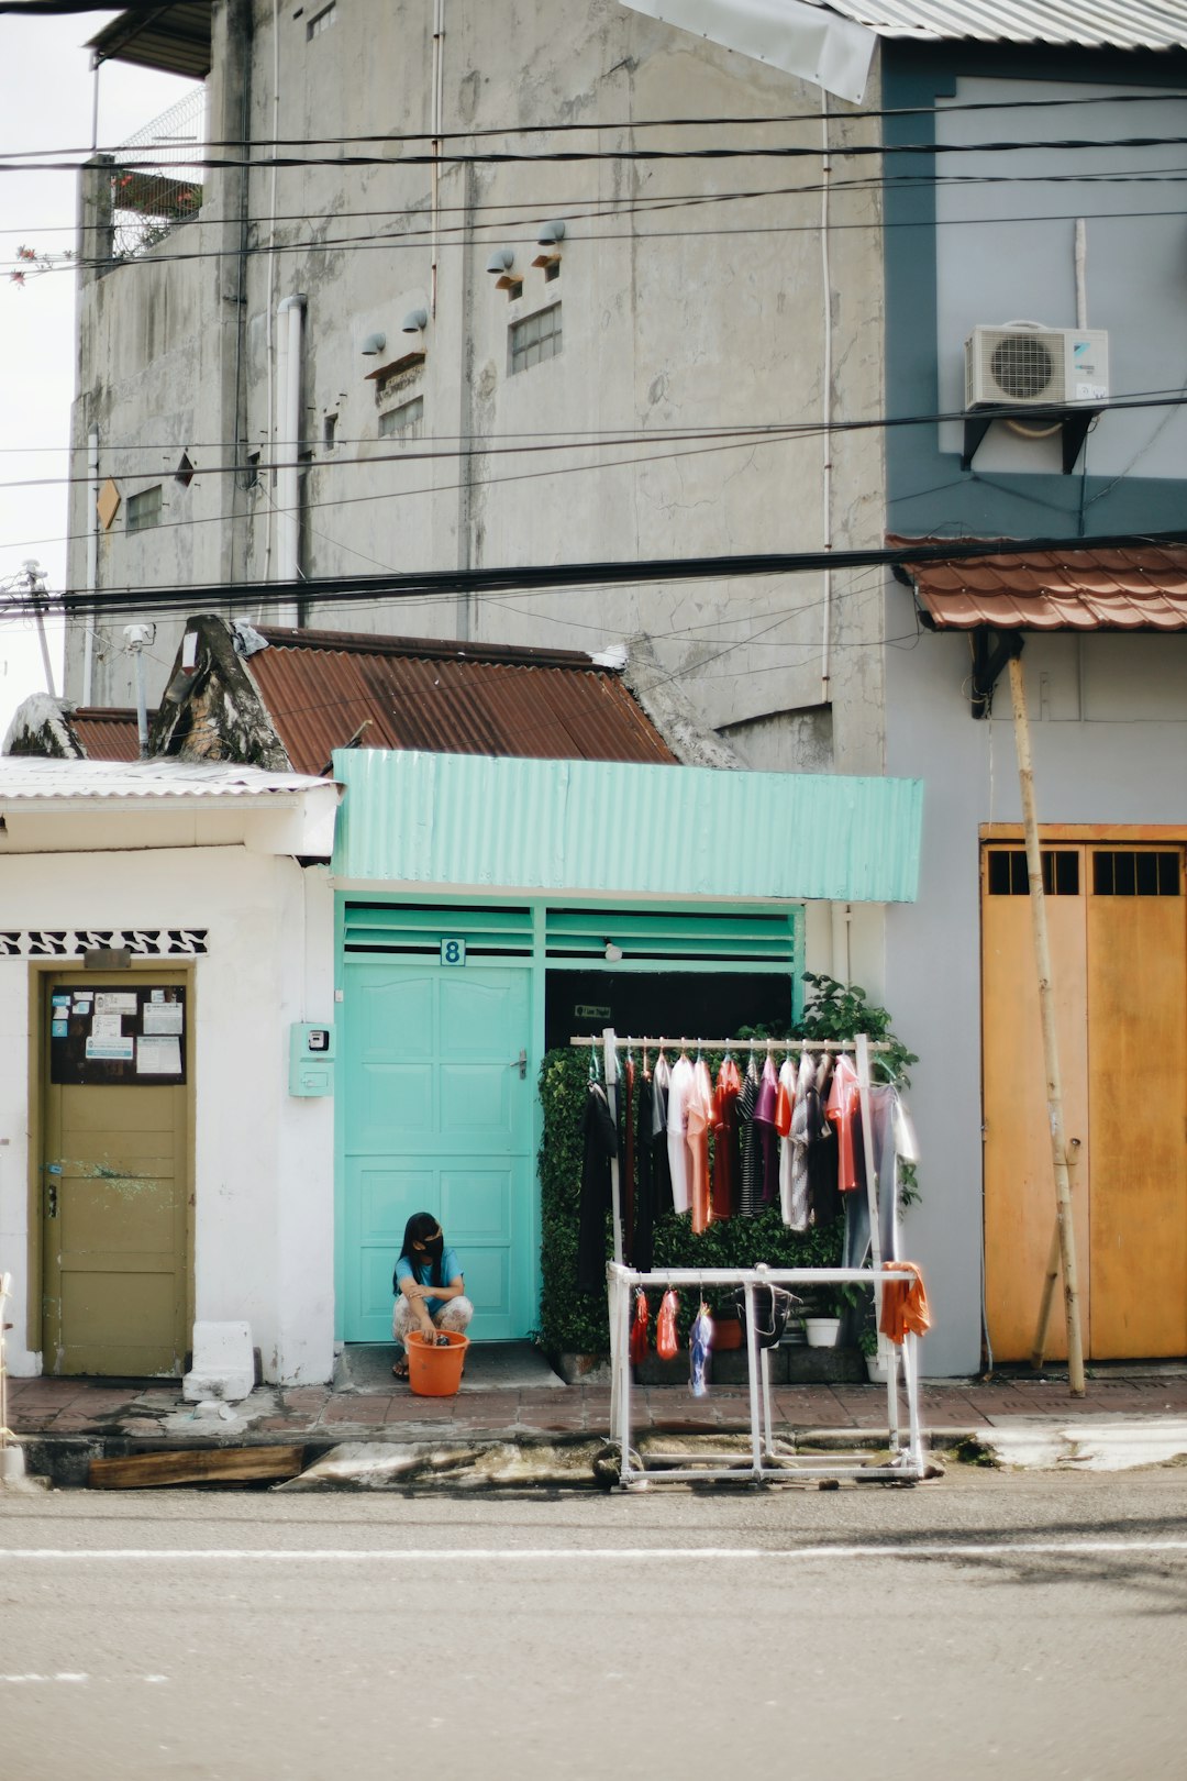
[[[961,540],[965,541],[965,540]],[[893,549],[940,538],[888,538]],[[1187,630],[1187,547],[1020,550],[908,563],[934,630]]]

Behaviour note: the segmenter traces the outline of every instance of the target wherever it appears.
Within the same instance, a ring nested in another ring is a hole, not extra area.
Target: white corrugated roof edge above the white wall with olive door
[[[0,755],[0,805],[43,798],[262,798],[324,791],[303,773],[265,773],[221,760],[48,760]]]

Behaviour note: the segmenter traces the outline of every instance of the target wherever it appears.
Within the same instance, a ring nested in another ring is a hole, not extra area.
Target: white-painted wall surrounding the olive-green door
[[[4,866],[4,907],[11,930],[206,930],[208,955],[192,962],[196,1316],[246,1318],[269,1380],[329,1378],[333,1101],[287,1092],[288,1022],[333,1019],[324,869],[221,846],[80,853],[57,857],[52,871],[27,853]],[[41,1370],[41,1355],[25,1348],[28,1295],[37,1289],[27,1275],[37,1145],[30,980],[28,960],[0,958],[0,1265],[16,1279],[9,1338],[16,1375]]]

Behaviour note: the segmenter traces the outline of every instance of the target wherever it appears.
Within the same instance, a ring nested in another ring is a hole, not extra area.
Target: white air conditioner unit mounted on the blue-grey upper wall
[[[1005,322],[965,342],[965,408],[1109,401],[1109,335]]]

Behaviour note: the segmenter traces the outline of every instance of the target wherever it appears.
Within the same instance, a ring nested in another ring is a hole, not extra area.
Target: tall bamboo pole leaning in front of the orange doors
[[[1018,785],[1021,789],[1021,817],[1027,832],[1027,876],[1030,880],[1030,924],[1034,930],[1034,964],[1039,974],[1039,1019],[1043,1022],[1043,1067],[1046,1072],[1046,1124],[1052,1134],[1052,1165],[1055,1170],[1055,1238],[1064,1279],[1064,1322],[1068,1325],[1068,1386],[1073,1398],[1084,1396],[1084,1343],[1080,1336],[1080,1288],[1075,1266],[1075,1231],[1071,1225],[1071,1183],[1068,1179],[1068,1143],[1064,1138],[1064,1097],[1059,1074],[1059,1040],[1055,1035],[1055,994],[1052,987],[1052,947],[1046,931],[1046,896],[1043,892],[1043,855],[1039,851],[1039,823],[1034,809],[1034,766],[1030,760],[1030,721],[1021,675],[1021,659],[1011,655],[1009,689],[1014,700],[1014,746],[1018,750]],[[1050,1277],[1050,1270],[1048,1270]],[[1054,1286],[1052,1286],[1054,1289]],[[1050,1293],[1045,1289],[1046,1313]],[[1046,1339],[1046,1318],[1036,1334],[1036,1350]]]

